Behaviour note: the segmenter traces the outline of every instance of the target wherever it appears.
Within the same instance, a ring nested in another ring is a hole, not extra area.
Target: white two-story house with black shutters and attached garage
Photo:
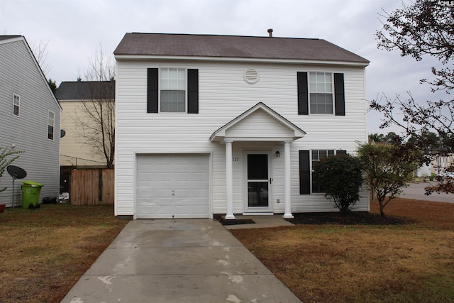
[[[159,33],[114,55],[116,216],[337,211],[311,167],[367,142],[369,61],[319,39]]]

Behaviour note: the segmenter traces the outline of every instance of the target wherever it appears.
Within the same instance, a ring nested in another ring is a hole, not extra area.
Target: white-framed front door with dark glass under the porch
[[[248,204],[246,211],[270,211],[270,155],[250,152],[246,155]]]

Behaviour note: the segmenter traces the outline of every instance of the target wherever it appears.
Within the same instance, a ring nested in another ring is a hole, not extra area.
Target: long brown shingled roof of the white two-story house
[[[236,35],[126,33],[114,54],[369,63],[326,40]]]

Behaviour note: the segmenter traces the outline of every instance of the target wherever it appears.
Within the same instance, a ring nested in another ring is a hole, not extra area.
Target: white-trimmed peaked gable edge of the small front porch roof
[[[289,120],[285,119],[283,116],[278,114],[276,111],[271,109],[269,106],[264,104],[263,102],[259,102],[258,104],[255,104],[253,107],[245,111],[243,114],[240,114],[236,118],[232,119],[225,125],[221,126],[218,128],[214,133],[210,136],[210,141],[222,141],[223,138],[226,136],[226,131],[228,128],[231,128],[232,126],[235,126],[237,123],[240,121],[243,121],[244,119],[247,119],[248,116],[251,114],[255,113],[258,110],[265,111],[268,116],[270,116],[272,119],[275,119],[279,123],[281,123],[283,126],[289,128],[289,130],[293,131],[293,140],[297,140],[299,138],[302,138],[304,135],[306,135],[306,132],[303,131],[301,128],[298,126],[294,125],[294,123],[290,122]]]

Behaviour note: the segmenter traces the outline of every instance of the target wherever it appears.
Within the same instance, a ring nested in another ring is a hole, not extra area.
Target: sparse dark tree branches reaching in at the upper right
[[[429,163],[439,155],[454,153],[454,100],[450,93],[454,89],[454,7],[449,1],[413,0],[402,1],[402,6],[392,13],[382,14],[383,27],[377,31],[377,46],[384,50],[400,51],[402,56],[424,57],[438,60],[438,67],[432,67],[433,79],[421,79],[431,86],[432,92],[445,92],[445,100],[426,101],[399,96],[388,99],[383,96],[370,102],[370,108],[380,111],[385,121],[382,128],[399,126],[414,148],[430,150],[423,154]],[[427,136],[434,133],[436,136]],[[452,191],[452,184],[445,182],[446,191]]]

